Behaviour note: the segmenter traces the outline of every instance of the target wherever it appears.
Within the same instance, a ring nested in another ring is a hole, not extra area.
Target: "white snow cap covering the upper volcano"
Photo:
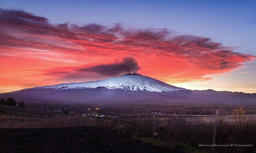
[[[187,90],[167,84],[165,82],[143,76],[140,74],[125,74],[119,77],[108,78],[99,81],[81,82],[81,83],[63,83],[52,86],[35,87],[37,89],[86,89],[106,87],[108,89],[123,89],[132,91],[151,91],[151,92],[177,92]],[[35,89],[34,88],[34,89]]]

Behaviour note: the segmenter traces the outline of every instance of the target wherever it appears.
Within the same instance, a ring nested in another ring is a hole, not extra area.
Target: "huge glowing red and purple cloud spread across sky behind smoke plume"
[[[175,35],[168,29],[53,25],[31,13],[0,9],[3,86],[54,84],[63,77],[97,80],[108,77],[99,70],[114,71],[127,56],[137,60],[143,75],[168,82],[202,81],[210,79],[206,75],[232,71],[256,59],[231,49],[210,38]],[[88,79],[94,73],[95,78]]]

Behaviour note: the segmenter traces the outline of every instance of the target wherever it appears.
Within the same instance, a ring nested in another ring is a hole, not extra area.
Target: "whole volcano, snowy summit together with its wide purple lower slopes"
[[[158,103],[222,103],[255,104],[256,93],[188,90],[140,75],[125,74],[99,81],[63,83],[0,94],[28,103],[120,103],[140,100]]]

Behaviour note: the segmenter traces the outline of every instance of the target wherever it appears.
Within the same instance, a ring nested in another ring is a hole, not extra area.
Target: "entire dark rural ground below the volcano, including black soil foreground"
[[[140,102],[1,105],[1,144],[4,152],[210,152],[210,146],[199,144],[212,144],[216,109],[220,110],[216,144],[256,144],[253,108]],[[254,152],[256,148],[215,149]]]

